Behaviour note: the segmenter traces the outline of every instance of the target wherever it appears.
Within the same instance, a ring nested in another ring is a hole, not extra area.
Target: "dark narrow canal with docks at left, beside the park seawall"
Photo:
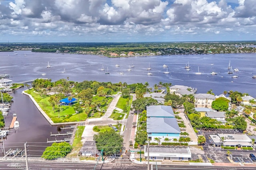
[[[8,116],[5,118],[6,127],[10,125],[13,114],[16,114],[17,121],[20,123],[20,128],[17,130],[10,129],[9,135],[7,135],[4,140],[4,148],[3,143],[0,145],[0,156],[4,155],[3,150],[7,151],[9,149],[16,148],[23,150],[24,143],[27,143],[28,145],[28,155],[41,156],[45,148],[52,145],[51,143],[47,143],[47,139],[49,141],[53,141],[55,139],[61,140],[67,137],[51,137],[51,132],[56,134],[58,132],[66,133],[66,131],[70,131],[70,129],[60,129],[62,126],[50,125],[50,123],[48,123],[44,116],[38,111],[30,98],[22,94],[22,91],[26,89],[27,88],[24,87],[10,93],[13,97],[13,102]]]

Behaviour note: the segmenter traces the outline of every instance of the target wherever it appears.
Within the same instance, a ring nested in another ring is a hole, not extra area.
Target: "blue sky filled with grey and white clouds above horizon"
[[[256,0],[0,0],[0,42],[256,40]]]

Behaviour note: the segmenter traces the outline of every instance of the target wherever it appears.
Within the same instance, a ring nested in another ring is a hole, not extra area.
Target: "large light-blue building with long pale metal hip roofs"
[[[171,106],[147,106],[147,133],[150,143],[174,142],[180,139],[180,127]]]

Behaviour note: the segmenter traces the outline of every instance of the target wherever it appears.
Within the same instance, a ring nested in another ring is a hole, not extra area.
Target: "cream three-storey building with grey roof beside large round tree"
[[[212,102],[216,99],[216,97],[212,94],[195,94],[195,107],[207,107],[212,108]]]

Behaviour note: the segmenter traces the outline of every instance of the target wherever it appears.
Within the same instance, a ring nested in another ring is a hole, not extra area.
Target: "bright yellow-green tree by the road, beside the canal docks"
[[[52,160],[56,158],[65,157],[69,152],[71,152],[72,147],[69,143],[53,143],[52,146],[47,147],[42,154],[42,158],[47,160]]]

